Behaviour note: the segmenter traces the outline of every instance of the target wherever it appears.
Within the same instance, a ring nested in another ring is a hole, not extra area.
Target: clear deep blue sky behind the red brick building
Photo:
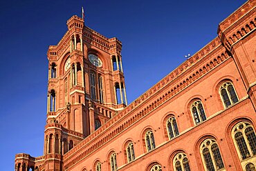
[[[15,154],[43,154],[48,46],[66,21],[86,12],[85,25],[122,41],[129,103],[217,37],[219,22],[245,1],[56,0],[0,3],[1,170],[14,170]]]

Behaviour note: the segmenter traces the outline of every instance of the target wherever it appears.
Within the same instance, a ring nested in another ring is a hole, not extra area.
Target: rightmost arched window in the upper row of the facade
[[[237,103],[237,93],[235,92],[235,88],[231,82],[223,83],[219,89],[219,92],[226,108],[232,104]]]

